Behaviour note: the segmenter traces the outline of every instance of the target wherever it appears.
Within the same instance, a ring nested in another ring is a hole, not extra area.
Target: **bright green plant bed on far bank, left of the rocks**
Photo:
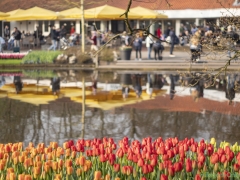
[[[33,51],[28,53],[23,59],[23,64],[51,64],[61,51]]]

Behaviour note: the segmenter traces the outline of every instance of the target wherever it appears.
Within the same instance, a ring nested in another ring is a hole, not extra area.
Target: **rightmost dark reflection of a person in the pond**
[[[227,75],[226,77],[226,98],[228,99],[228,104],[231,105],[233,99],[235,98],[235,85],[236,85],[236,75]]]

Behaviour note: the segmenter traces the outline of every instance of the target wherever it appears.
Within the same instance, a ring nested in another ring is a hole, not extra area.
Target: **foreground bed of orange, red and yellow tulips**
[[[240,147],[215,139],[161,137],[118,142],[112,138],[0,144],[0,179],[6,180],[201,180],[240,179]]]

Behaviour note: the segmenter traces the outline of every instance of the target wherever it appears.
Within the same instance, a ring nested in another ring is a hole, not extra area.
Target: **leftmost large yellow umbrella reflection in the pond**
[[[40,104],[48,104],[50,101],[55,101],[56,99],[58,99],[58,96],[53,95],[52,92],[47,93],[20,92],[19,94],[8,93],[8,98],[38,106]]]

